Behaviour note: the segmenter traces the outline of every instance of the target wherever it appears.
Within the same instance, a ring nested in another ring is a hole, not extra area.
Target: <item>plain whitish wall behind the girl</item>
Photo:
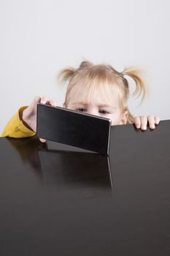
[[[169,0],[0,0],[0,132],[35,95],[62,106],[56,75],[84,59],[145,69],[149,98],[131,97],[129,109],[170,119],[169,12]]]

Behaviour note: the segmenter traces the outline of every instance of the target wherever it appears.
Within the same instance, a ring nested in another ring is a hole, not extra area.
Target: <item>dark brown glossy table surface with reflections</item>
[[[0,255],[170,255],[170,120],[112,127],[109,156],[0,138]]]

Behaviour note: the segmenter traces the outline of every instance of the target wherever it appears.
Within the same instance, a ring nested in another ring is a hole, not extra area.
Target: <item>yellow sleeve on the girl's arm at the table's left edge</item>
[[[20,119],[20,111],[28,108],[28,106],[23,106],[19,108],[18,112],[15,113],[12,118],[9,119],[6,127],[1,134],[2,137],[11,137],[11,138],[26,138],[36,135],[36,133],[32,129],[28,129],[23,124],[23,121]]]

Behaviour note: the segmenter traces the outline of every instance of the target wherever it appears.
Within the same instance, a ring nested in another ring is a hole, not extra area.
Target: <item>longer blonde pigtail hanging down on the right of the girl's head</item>
[[[141,104],[145,97],[148,96],[147,84],[144,78],[142,77],[142,69],[138,69],[136,67],[125,67],[123,72],[121,72],[121,75],[128,75],[130,78],[134,80],[136,84],[136,89],[132,96],[136,96],[137,98],[142,95],[142,99],[140,102]]]

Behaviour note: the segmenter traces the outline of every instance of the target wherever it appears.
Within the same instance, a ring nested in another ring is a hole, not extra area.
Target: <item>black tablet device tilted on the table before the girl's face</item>
[[[109,154],[111,124],[109,118],[37,104],[36,135],[39,138]]]

